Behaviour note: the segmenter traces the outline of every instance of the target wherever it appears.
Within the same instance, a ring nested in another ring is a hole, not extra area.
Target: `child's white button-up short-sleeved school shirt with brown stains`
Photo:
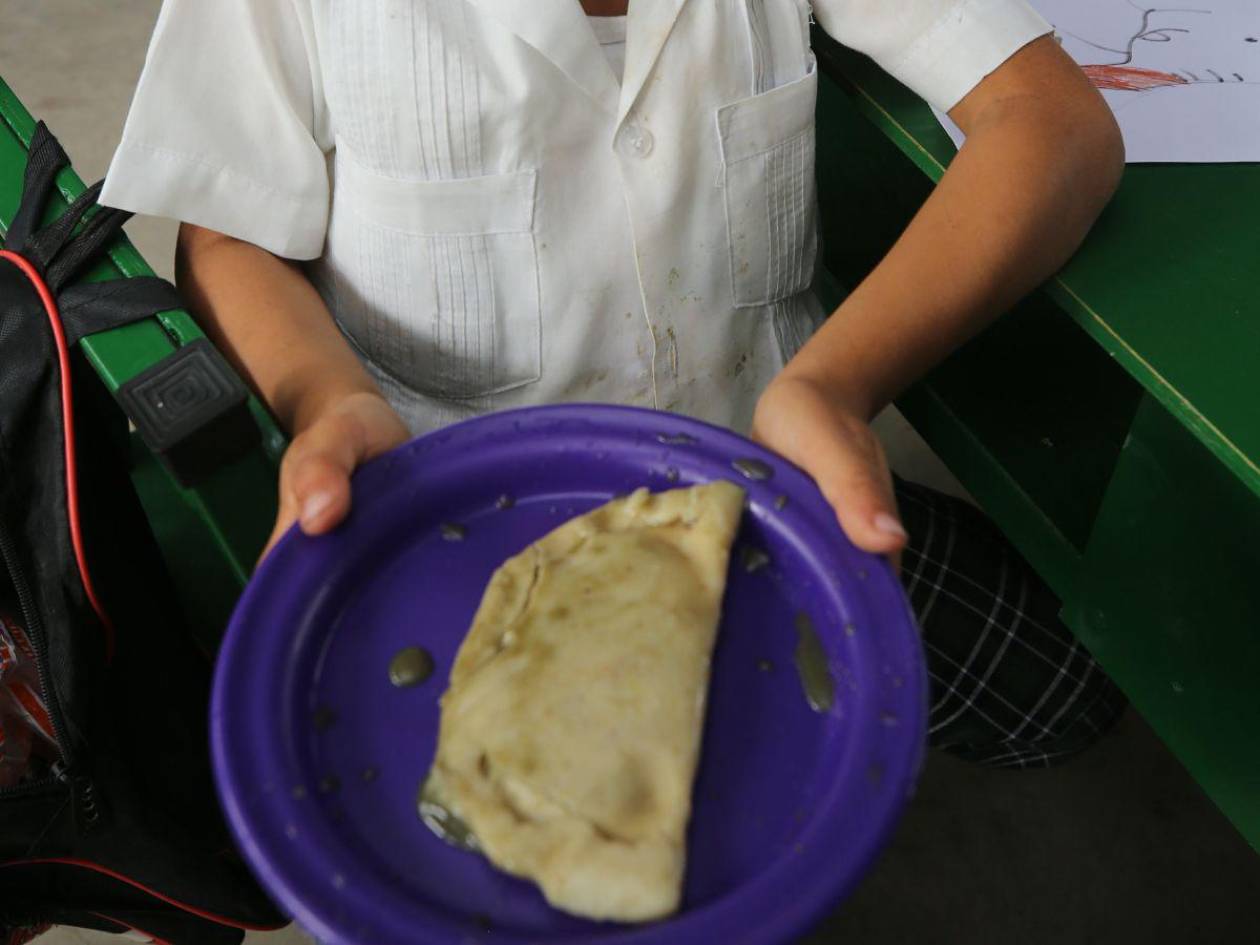
[[[415,432],[558,401],[743,430],[823,315],[810,13],[945,110],[1050,32],[635,0],[617,76],[578,0],[165,0],[101,199],[307,261]]]

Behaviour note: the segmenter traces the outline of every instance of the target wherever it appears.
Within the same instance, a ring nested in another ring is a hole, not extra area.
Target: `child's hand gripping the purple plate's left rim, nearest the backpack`
[[[411,433],[384,398],[352,393],[294,437],[280,464],[280,513],[262,554],[299,522],[306,534],[331,530],[350,510],[350,474],[404,444]]]

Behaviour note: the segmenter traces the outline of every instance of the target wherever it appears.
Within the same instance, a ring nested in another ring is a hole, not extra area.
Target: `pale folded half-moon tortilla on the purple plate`
[[[620,921],[678,908],[742,507],[726,481],[640,489],[490,578],[442,696],[425,796],[557,908]]]

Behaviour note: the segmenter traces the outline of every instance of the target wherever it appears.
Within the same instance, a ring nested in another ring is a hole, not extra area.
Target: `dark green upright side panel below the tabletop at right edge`
[[[1260,501],[1147,397],[1065,620],[1260,850]]]

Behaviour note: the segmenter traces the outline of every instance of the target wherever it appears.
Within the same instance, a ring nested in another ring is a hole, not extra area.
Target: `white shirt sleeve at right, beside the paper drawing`
[[[1053,29],[1024,0],[814,0],[814,15],[941,111]]]

